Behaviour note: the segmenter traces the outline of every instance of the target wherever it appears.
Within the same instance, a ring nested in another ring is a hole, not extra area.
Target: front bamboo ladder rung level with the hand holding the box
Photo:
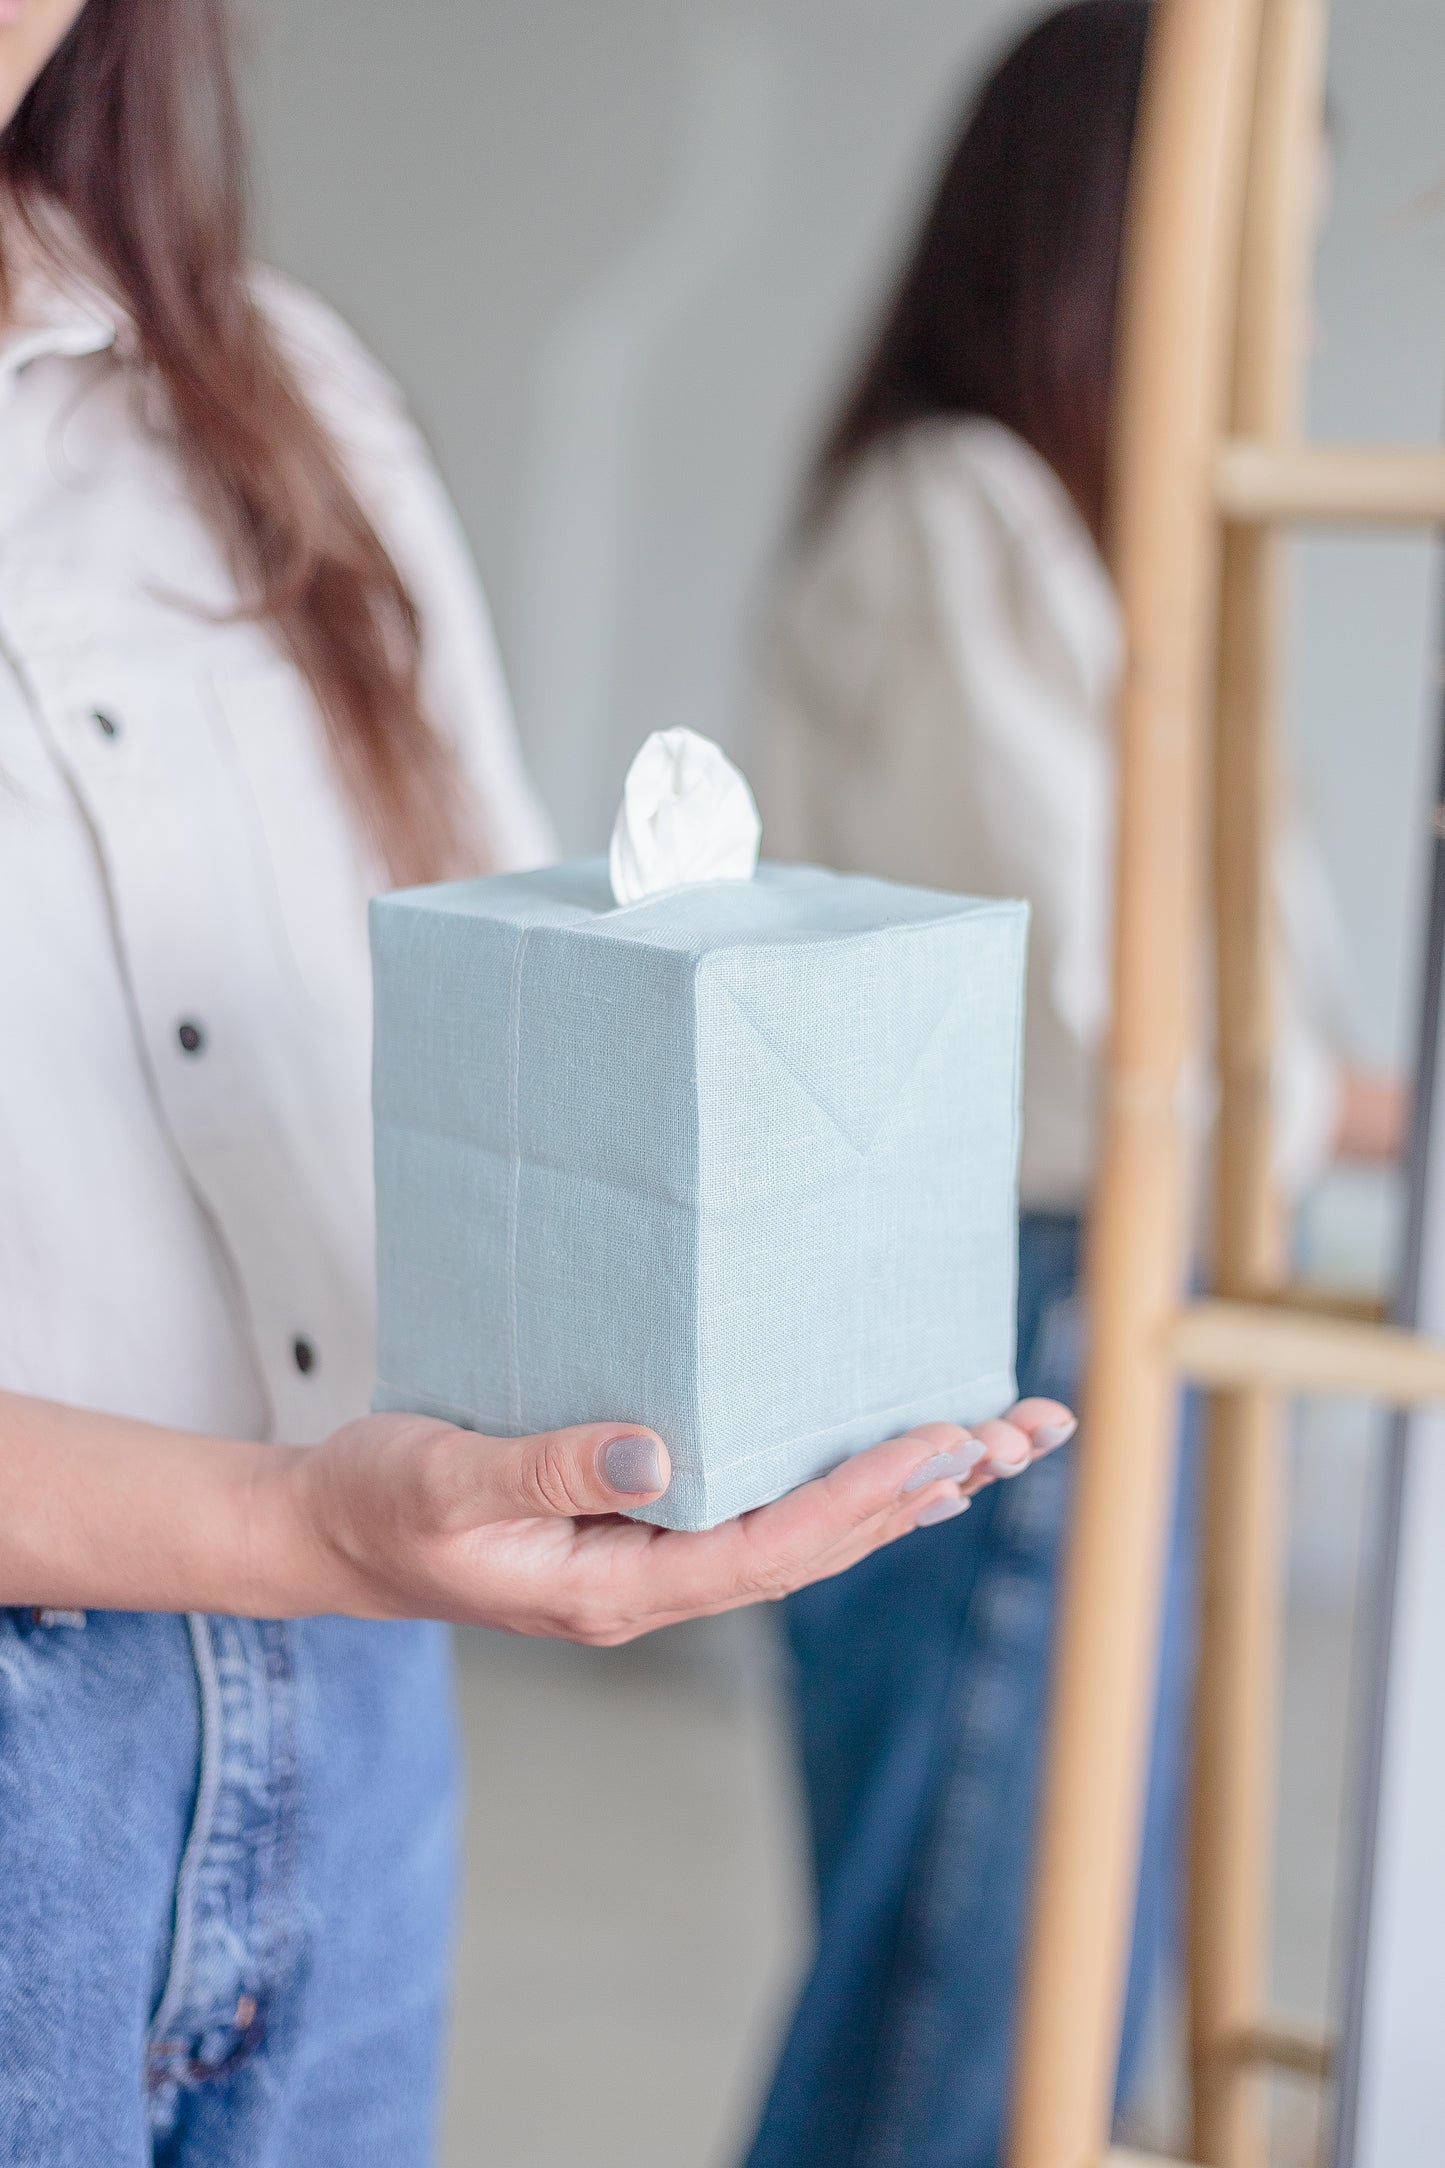
[[[1181,1309],[1166,1344],[1194,1385],[1343,1394],[1384,1407],[1445,1401],[1445,1346],[1397,1325],[1205,1301]]]

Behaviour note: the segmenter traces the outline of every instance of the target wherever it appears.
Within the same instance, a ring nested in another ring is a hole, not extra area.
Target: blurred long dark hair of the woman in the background
[[[864,451],[988,414],[1103,529],[1114,319],[1148,0],[1046,15],[971,100],[869,360],[817,457],[832,501]]]

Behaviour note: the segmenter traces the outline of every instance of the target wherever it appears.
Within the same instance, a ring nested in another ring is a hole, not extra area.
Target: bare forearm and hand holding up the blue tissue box
[[[0,1604],[446,1617],[574,1641],[786,1596],[960,1513],[1062,1446],[1057,1401],[925,1422],[706,1535],[620,1520],[661,1498],[635,1424],[477,1437],[366,1416],[321,1446],[201,1437],[0,1394]]]

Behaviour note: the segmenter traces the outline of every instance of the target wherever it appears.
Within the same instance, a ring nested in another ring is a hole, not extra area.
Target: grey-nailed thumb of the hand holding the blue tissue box
[[[438,1429],[427,1448],[427,1500],[440,1531],[496,1520],[578,1520],[661,1498],[667,1446],[626,1422],[583,1422],[535,1437]]]

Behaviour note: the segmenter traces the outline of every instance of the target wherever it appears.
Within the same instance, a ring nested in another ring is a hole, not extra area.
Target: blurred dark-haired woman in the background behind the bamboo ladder
[[[1146,26],[1142,0],[1062,9],[973,102],[812,473],[750,748],[776,856],[1033,906],[1018,1362],[1025,1390],[1064,1398],[1109,1008],[1120,620],[1101,538]],[[1309,928],[1298,837],[1283,861],[1285,915]],[[1330,1149],[1389,1149],[1397,1097],[1341,1069],[1298,939],[1293,958],[1278,1162],[1298,1188]],[[752,2168],[999,2159],[1064,1515],[1055,1463],[786,1606],[821,1945]],[[1122,2092],[1170,1925],[1185,1520]]]

